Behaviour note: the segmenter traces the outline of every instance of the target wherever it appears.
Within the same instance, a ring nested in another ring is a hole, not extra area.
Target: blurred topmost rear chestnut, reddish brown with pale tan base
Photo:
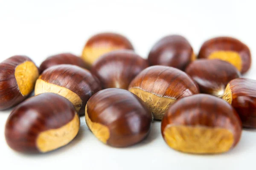
[[[86,42],[81,57],[84,62],[92,65],[103,54],[118,49],[134,50],[131,42],[121,34],[111,32],[99,33],[90,37]]]

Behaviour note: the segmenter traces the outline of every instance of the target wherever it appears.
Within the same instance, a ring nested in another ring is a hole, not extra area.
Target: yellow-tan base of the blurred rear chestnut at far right
[[[209,59],[221,59],[234,65],[238,71],[242,70],[242,59],[235,51],[215,51],[212,52]]]

